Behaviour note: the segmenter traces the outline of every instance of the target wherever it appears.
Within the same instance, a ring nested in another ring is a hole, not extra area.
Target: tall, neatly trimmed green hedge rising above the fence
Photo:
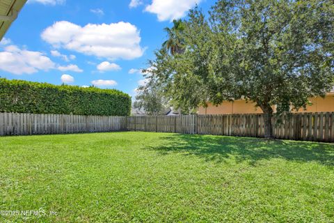
[[[0,78],[0,112],[127,116],[130,111],[131,98],[122,91]]]

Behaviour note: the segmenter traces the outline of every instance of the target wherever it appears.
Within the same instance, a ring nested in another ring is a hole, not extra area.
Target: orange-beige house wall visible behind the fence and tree
[[[306,109],[299,109],[298,112],[334,112],[334,91],[327,93],[325,98],[315,97],[310,98],[312,105],[308,105]],[[276,111],[276,106],[273,106]],[[255,107],[254,102],[246,102],[246,100],[234,100],[234,102],[223,102],[221,105],[215,106],[211,103],[207,107],[200,107],[198,114],[262,114],[260,107]]]

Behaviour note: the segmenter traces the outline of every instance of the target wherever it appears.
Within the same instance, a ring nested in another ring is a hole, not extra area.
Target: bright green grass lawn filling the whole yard
[[[334,222],[334,145],[148,132],[0,137],[0,222]],[[57,215],[49,215],[54,211]]]

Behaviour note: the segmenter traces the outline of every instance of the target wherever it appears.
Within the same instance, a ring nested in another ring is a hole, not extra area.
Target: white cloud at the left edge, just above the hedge
[[[55,68],[54,62],[42,52],[19,49],[16,45],[9,45],[0,52],[0,70],[15,75],[32,74],[53,68]]]

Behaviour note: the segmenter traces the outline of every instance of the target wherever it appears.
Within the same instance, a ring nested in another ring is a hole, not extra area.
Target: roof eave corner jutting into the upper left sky
[[[17,18],[26,0],[1,0],[0,1],[0,40],[5,36],[10,25]]]

